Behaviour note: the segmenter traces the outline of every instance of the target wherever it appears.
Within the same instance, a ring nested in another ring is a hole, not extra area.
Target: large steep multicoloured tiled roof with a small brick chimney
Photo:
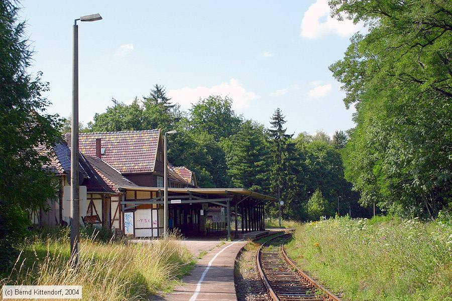
[[[80,133],[79,149],[94,157],[96,138],[101,138],[101,146],[105,147],[102,160],[120,173],[153,172],[159,137],[159,129]]]

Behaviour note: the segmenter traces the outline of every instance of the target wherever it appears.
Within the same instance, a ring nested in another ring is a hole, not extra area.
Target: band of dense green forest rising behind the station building
[[[114,101],[106,112],[96,114],[84,130],[145,130],[176,128],[169,139],[169,161],[196,173],[201,187],[240,187],[251,189],[285,202],[284,215],[309,220],[307,202],[319,190],[325,200],[320,215],[334,216],[337,197],[342,198],[340,212],[352,208],[354,216],[369,212],[358,204],[359,193],[344,178],[341,149],[347,135],[337,131],[331,139],[324,132],[300,133],[296,138],[286,133],[285,116],[277,109],[266,128],[232,109],[229,97],[209,96],[192,104],[188,112],[171,102],[165,90],[156,85],[151,95],[132,104]],[[163,100],[164,99],[164,100]],[[176,99],[177,101],[177,99]],[[267,206],[277,216],[275,204]]]

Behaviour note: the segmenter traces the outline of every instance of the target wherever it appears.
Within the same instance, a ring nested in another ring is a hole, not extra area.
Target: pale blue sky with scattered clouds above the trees
[[[311,1],[23,1],[35,50],[32,71],[50,83],[49,112],[70,114],[72,24],[79,24],[79,104],[85,124],[111,98],[128,103],[163,85],[188,109],[209,94],[269,126],[280,107],[289,133],[354,126],[344,93],[327,67],[343,57],[350,22]]]

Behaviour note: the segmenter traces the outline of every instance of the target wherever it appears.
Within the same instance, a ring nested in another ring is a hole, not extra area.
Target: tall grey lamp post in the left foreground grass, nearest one
[[[71,256],[72,265],[79,260],[80,240],[80,196],[78,176],[78,25],[77,21],[92,22],[102,20],[99,14],[82,16],[74,20],[72,28],[72,115],[71,115]]]

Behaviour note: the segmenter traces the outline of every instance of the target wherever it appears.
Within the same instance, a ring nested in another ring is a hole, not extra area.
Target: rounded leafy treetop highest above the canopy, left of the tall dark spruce
[[[228,96],[200,99],[190,109],[191,128],[209,133],[217,142],[237,133],[242,119],[231,108],[232,102]]]

